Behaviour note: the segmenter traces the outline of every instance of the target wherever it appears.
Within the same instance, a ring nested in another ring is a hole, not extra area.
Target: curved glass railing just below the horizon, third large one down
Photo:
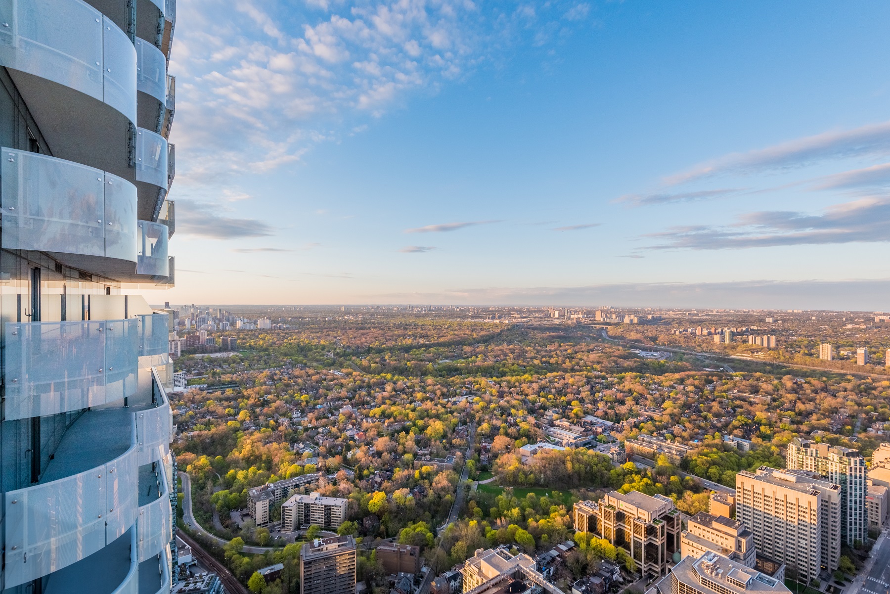
[[[136,319],[6,324],[6,420],[111,403],[137,389]]]

